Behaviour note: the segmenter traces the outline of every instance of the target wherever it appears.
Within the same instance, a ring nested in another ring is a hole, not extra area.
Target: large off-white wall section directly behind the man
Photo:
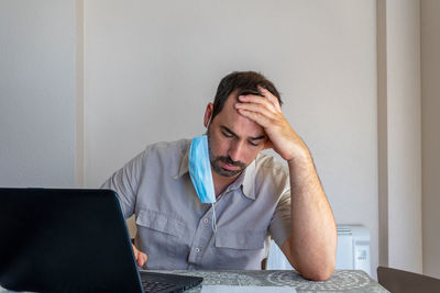
[[[146,144],[204,133],[221,77],[257,70],[310,147],[338,224],[377,267],[375,1],[86,1],[85,185]]]

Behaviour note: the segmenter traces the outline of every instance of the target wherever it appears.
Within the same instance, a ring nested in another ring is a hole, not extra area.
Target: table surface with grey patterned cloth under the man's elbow
[[[161,271],[164,272],[164,271]],[[324,282],[312,282],[295,271],[165,271],[202,277],[206,285],[293,286],[302,292],[388,292],[364,271],[338,270]],[[186,292],[200,292],[200,288]]]

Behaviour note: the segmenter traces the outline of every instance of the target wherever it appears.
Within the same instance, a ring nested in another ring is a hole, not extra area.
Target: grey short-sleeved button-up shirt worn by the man
[[[290,235],[287,167],[258,155],[212,206],[188,172],[188,139],[148,146],[101,188],[118,192],[125,218],[135,214],[136,247],[148,269],[261,269],[271,237]]]

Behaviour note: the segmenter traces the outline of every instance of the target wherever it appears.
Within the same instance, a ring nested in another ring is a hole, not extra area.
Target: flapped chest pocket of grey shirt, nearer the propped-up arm
[[[219,269],[261,269],[266,257],[266,230],[222,230],[216,235],[216,263]]]

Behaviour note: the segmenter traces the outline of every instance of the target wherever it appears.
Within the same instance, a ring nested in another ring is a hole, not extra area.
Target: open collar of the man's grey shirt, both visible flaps
[[[189,147],[186,148],[184,155],[182,156],[182,161],[177,170],[177,174],[174,176],[174,179],[178,179],[183,177],[185,173],[189,172],[188,168],[188,157],[189,157]],[[258,155],[260,156],[260,155]],[[235,190],[241,188],[241,191],[244,196],[250,200],[255,200],[255,159],[244,169],[244,171],[235,179],[227,190]]]

